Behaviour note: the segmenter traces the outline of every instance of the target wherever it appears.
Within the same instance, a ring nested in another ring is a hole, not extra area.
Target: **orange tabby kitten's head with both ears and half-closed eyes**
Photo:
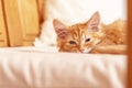
[[[100,15],[99,12],[85,23],[67,26],[58,20],[53,21],[57,34],[59,52],[89,53],[100,41]]]

